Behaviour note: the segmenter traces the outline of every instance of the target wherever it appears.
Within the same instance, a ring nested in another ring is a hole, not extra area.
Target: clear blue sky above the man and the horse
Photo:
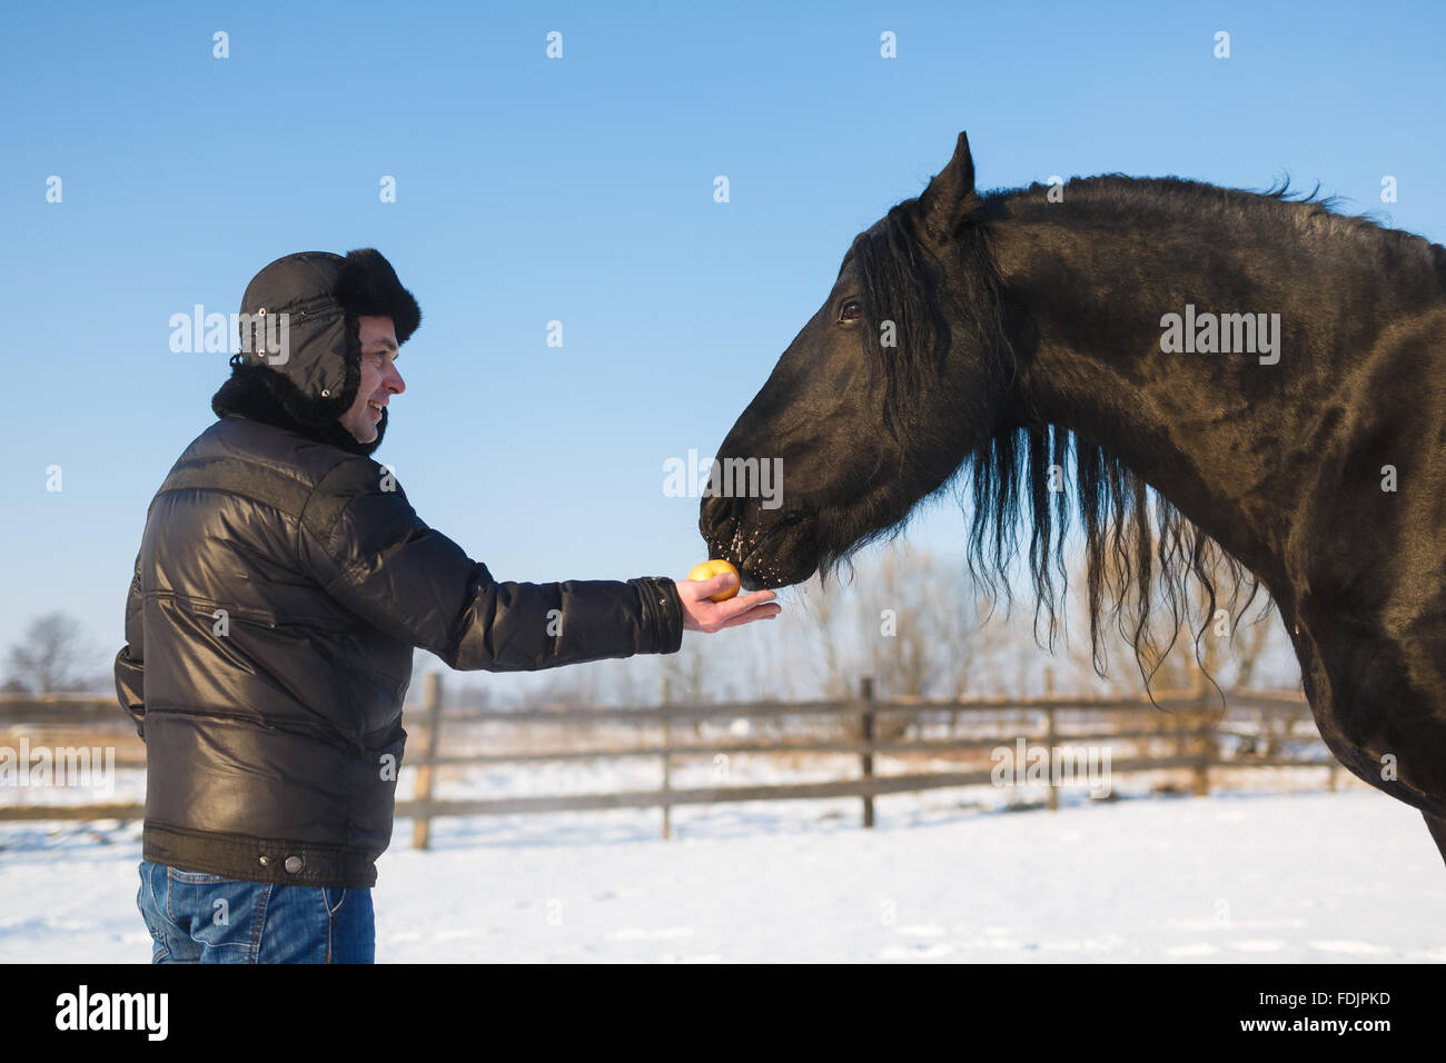
[[[375,246],[416,294],[376,457],[424,521],[499,579],[681,577],[697,499],[664,461],[713,454],[959,130],[982,188],[1288,171],[1440,243],[1443,30],[1430,3],[14,7],[0,649],[54,609],[120,646],[146,505],[228,372],[169,317],[281,255]]]

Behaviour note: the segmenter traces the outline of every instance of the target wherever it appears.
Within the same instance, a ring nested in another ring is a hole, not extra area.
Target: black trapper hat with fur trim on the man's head
[[[362,383],[357,318],[369,315],[392,318],[398,344],[422,321],[416,299],[380,252],[276,259],[246,286],[241,349],[231,356],[231,377],[211,398],[211,409],[372,454],[382,445],[386,411],[372,443],[357,443],[338,424]]]

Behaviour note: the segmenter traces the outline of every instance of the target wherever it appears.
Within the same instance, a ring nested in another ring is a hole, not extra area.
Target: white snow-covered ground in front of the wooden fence
[[[379,962],[1443,962],[1446,868],[1381,794],[966,791],[398,820]],[[149,962],[139,824],[0,830],[0,962]],[[106,839],[106,840],[101,840]]]

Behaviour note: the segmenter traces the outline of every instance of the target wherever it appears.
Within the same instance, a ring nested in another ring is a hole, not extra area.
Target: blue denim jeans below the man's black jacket
[[[140,862],[152,963],[372,963],[370,889],[247,882]]]

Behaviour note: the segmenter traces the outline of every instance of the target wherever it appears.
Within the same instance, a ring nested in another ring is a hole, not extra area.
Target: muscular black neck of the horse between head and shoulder
[[[1274,581],[1301,463],[1384,327],[1391,281],[1362,283],[1349,249],[1312,255],[1327,237],[1265,214],[1258,226],[1209,210],[1122,223],[1034,204],[991,239],[1037,336],[1021,376],[1032,415],[1105,447]],[[1225,353],[1216,328],[1207,353],[1207,314],[1252,314],[1265,331],[1254,351]],[[1177,338],[1184,350],[1161,349]]]

